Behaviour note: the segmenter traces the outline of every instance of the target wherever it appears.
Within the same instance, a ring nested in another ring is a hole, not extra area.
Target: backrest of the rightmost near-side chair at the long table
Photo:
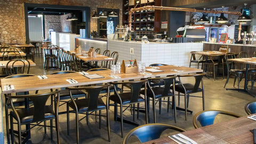
[[[202,85],[202,90],[204,90],[203,77],[205,76],[205,73],[196,73],[196,74],[192,74],[192,75],[181,75],[181,76],[178,75],[179,81],[181,84],[182,84],[182,82],[181,82],[180,77],[192,77],[192,76],[195,77],[195,84],[194,84],[194,87],[193,87],[193,90],[191,91],[191,93],[198,92],[198,88],[199,88],[200,84]]]

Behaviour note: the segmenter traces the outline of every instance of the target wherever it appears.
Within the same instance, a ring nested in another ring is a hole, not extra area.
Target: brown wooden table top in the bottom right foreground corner
[[[197,143],[253,143],[253,134],[256,122],[247,116],[235,118],[227,122],[217,123],[199,129],[182,132]],[[168,137],[145,142],[151,143],[176,143]]]

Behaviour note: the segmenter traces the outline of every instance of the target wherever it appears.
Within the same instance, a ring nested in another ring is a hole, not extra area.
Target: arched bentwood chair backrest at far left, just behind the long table
[[[26,63],[28,66],[26,66]],[[15,65],[19,65],[19,66],[15,66]],[[30,63],[28,60],[12,59],[12,60],[8,61],[6,64],[5,74],[7,76],[16,75],[16,74],[24,74],[26,67],[27,67],[27,74],[29,74]]]

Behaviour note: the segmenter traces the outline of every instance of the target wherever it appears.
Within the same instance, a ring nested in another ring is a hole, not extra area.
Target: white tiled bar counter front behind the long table
[[[134,49],[132,59],[146,63],[164,63],[167,65],[189,66],[190,52],[203,51],[203,43],[149,43],[109,41],[110,52],[119,53],[118,61],[130,60],[130,48]]]

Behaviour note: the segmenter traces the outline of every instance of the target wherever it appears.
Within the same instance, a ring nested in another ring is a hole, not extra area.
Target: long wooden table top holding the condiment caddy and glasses
[[[38,77],[20,77],[20,78],[7,78],[1,79],[2,84],[2,93],[14,93],[14,92],[24,92],[24,91],[35,91],[35,90],[45,90],[45,89],[57,89],[60,87],[68,86],[77,86],[77,85],[88,85],[88,84],[97,84],[97,83],[108,83],[115,81],[126,81],[129,79],[140,79],[143,77],[155,77],[155,76],[166,76],[166,75],[181,75],[188,73],[197,73],[202,72],[202,69],[188,68],[188,67],[175,67],[175,66],[159,66],[162,72],[151,73],[152,75],[143,76],[139,73],[131,74],[118,74],[117,76],[121,78],[111,78],[110,70],[103,71],[90,71],[89,74],[99,74],[105,78],[89,79],[79,73],[71,74],[59,74],[59,75],[46,75],[47,79],[39,79]],[[182,71],[173,71],[173,69],[182,70]],[[148,71],[147,71],[148,72]],[[150,73],[150,72],[148,72]],[[73,78],[78,83],[70,84],[66,79]],[[4,85],[14,85],[14,90],[4,91]]]

